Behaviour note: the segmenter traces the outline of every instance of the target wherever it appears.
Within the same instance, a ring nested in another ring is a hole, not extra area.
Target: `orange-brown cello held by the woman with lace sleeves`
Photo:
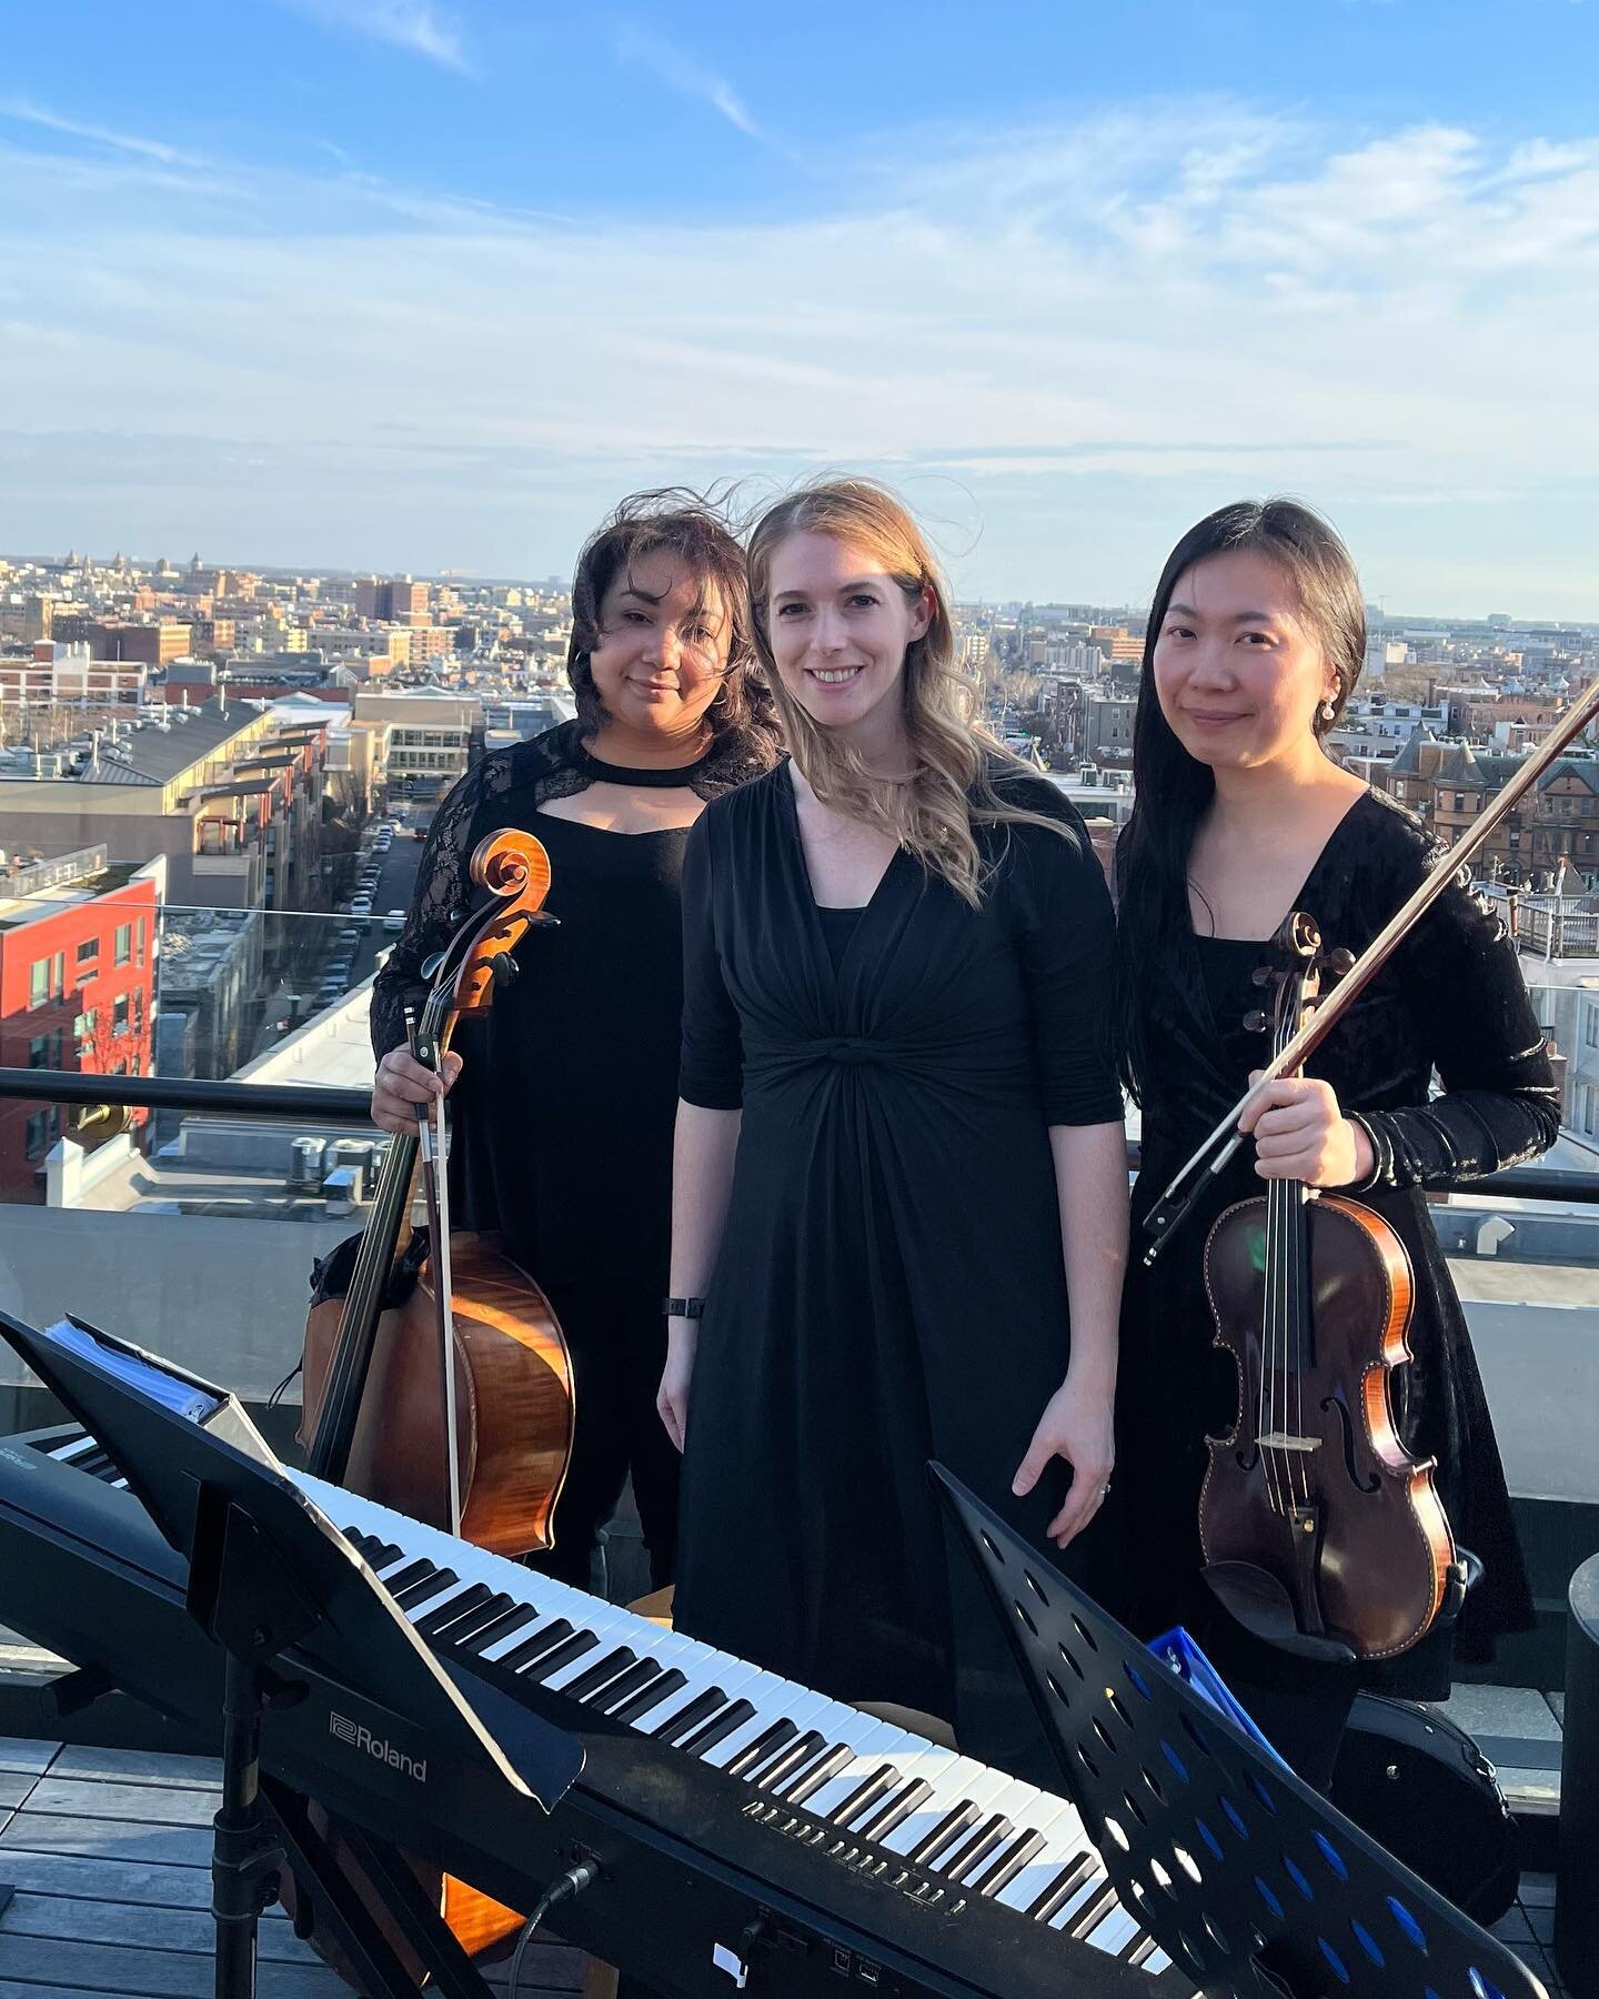
[[[412,1051],[432,1069],[456,1021],[482,1015],[496,986],[516,976],[512,952],[528,928],[554,922],[542,914],[550,858],[532,834],[490,834],[472,856],[472,880],[484,906],[424,966],[430,992]],[[572,1455],[572,1355],[538,1283],[492,1239],[452,1233],[442,1099],[418,1105],[418,1117],[416,1137],[390,1141],[344,1299],[320,1295],[306,1317],[306,1469],[500,1555],[548,1549]],[[400,1255],[418,1157],[428,1201],[420,1265],[420,1243]],[[466,1881],[422,1861],[412,1867],[430,1895],[438,1891],[468,1957],[522,1927],[522,1915]],[[290,1913],[348,1979],[316,1931],[316,1911]],[[390,1941],[410,1957],[404,1939]]]

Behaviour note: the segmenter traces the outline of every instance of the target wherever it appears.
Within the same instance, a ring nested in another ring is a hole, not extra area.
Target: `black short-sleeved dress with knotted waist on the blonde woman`
[[[979,830],[979,910],[901,850],[865,910],[817,912],[786,768],[690,838],[682,1093],[744,1119],[676,1621],[835,1699],[943,1715],[1015,1769],[1035,1723],[925,1467],[1047,1547],[1061,1463],[1009,1491],[1069,1355],[1047,1133],[1119,1123],[1121,1095],[1099,864],[1053,786],[1003,782],[1075,840]]]

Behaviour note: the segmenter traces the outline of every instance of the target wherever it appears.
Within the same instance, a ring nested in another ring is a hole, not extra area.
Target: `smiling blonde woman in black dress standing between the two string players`
[[[676,1615],[1015,1769],[1041,1743],[925,1467],[1039,1547],[1107,1489],[1109,896],[1073,808],[973,724],[891,494],[782,500],[750,588],[792,762],[716,800],[684,868]]]

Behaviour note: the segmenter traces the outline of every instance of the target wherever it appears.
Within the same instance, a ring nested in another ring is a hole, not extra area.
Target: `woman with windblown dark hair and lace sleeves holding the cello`
[[[434,816],[416,900],[372,996],[374,1121],[414,1129],[450,1091],[454,1211],[498,1229],[550,1295],[576,1373],[578,1429],[538,1567],[580,1587],[632,1473],[656,1583],[672,1579],[678,1453],[656,1419],[678,1101],[678,882],[706,802],[768,770],[776,738],[752,678],[744,552],[688,492],[636,494],[590,538],[572,584],[578,718],[476,764]],[[486,834],[550,852],[522,978],[434,1081],[406,1047],[406,1003],[474,896]]]

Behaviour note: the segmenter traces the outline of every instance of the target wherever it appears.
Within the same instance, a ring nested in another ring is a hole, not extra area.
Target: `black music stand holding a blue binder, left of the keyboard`
[[[488,1985],[400,1855],[364,1827],[336,1821],[338,1839],[376,1893],[380,1919],[306,1799],[260,1773],[262,1719],[308,1693],[282,1655],[294,1647],[316,1673],[318,1691],[332,1687],[330,1739],[350,1751],[378,1811],[408,1783],[426,1783],[430,1799],[448,1801],[462,1767],[550,1809],[582,1769],[582,1745],[536,1723],[520,1767],[512,1767],[232,1395],[82,1319],[66,1323],[80,1335],[76,1349],[4,1311],[0,1337],[116,1459],[162,1537],[188,1557],[186,1607],[224,1651],[222,1809],[212,1849],[218,1999],[252,1999],[256,1991],[256,1923],[278,1897],[286,1857],[368,1999],[416,1999],[424,1979],[448,1999],[488,1999]],[[204,1417],[180,1413],[156,1399],[160,1383],[146,1375],[138,1385],[140,1369],[216,1407]]]

